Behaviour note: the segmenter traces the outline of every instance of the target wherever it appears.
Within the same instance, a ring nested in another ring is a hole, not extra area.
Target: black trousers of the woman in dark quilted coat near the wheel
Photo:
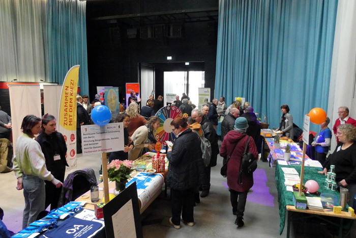
[[[181,224],[182,219],[185,222],[194,222],[194,189],[187,190],[170,190],[171,206],[172,206],[172,223],[174,225]]]

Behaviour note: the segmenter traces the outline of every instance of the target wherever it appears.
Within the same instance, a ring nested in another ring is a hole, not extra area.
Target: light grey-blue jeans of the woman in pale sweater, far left
[[[23,196],[25,208],[23,209],[22,229],[37,220],[37,216],[45,209],[45,183],[44,180],[33,175],[23,175]]]

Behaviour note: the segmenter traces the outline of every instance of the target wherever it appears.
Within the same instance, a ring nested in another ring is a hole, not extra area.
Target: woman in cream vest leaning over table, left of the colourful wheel
[[[157,130],[159,126],[160,126],[159,117],[152,116],[150,120],[146,122],[145,125],[142,125],[135,130],[135,132],[131,137],[134,143],[134,148],[129,151],[130,161],[136,160],[136,158],[141,156],[143,148],[148,148],[150,151],[152,151],[155,148],[155,144],[151,143],[151,141],[149,140],[149,134],[150,132]]]

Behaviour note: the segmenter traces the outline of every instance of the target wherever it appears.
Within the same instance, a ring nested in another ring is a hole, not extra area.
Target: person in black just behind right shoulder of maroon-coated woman
[[[253,138],[257,147],[257,151],[260,151],[262,144],[259,143],[259,137],[261,136],[261,125],[257,120],[256,114],[253,112],[253,108],[251,106],[245,108],[244,114],[242,114],[241,117],[245,117],[247,119],[249,127],[247,128],[246,134]]]

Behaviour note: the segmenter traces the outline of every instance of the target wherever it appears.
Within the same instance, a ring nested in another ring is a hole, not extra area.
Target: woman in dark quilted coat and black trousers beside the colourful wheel
[[[166,182],[171,188],[172,205],[169,223],[179,229],[181,215],[183,223],[194,225],[194,188],[206,183],[206,173],[199,138],[188,128],[187,119],[176,118],[170,125],[176,139],[167,153],[169,166]]]

